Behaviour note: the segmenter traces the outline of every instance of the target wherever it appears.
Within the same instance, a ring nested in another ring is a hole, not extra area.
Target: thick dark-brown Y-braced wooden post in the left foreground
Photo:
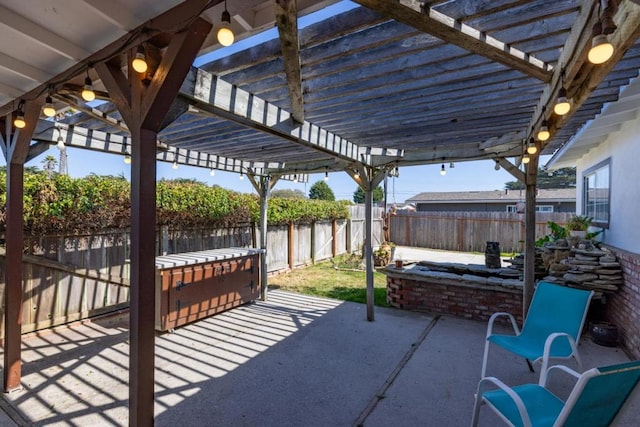
[[[186,3],[186,2],[185,2]],[[189,2],[185,19],[202,11]],[[179,14],[174,21],[180,22]],[[158,21],[159,22],[159,21]],[[196,18],[188,28],[167,34],[168,45],[150,82],[120,61],[95,69],[131,132],[131,306],[129,425],[152,426],[155,370],[156,142],[158,131],[211,24]],[[128,61],[134,51],[128,52]]]

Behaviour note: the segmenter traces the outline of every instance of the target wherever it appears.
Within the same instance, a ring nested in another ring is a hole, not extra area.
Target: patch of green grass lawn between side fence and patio
[[[367,282],[365,272],[358,270],[361,261],[355,256],[336,257],[331,261],[270,277],[269,287],[364,304]],[[373,282],[374,304],[388,307],[387,276],[376,271],[373,273]]]

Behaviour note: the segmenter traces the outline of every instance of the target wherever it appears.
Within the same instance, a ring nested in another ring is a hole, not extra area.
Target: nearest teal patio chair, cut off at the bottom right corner
[[[566,402],[547,389],[553,369],[578,380]],[[542,379],[545,378],[545,382]],[[640,361],[589,369],[582,375],[555,365],[540,375],[540,383],[510,388],[494,377],[478,384],[472,426],[478,425],[480,408],[486,403],[503,421],[513,426],[609,426],[640,380]],[[497,388],[487,389],[487,386]]]

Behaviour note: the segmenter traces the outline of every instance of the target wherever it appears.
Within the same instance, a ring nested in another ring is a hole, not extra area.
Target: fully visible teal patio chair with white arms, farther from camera
[[[487,326],[480,377],[486,376],[489,346],[492,343],[524,357],[531,372],[534,371],[532,362],[542,360],[542,375],[545,375],[549,358],[568,359],[570,357],[576,359],[582,370],[577,343],[591,297],[593,297],[592,291],[542,281],[538,283],[533,294],[522,331],[518,328],[512,314],[494,313],[489,318]],[[507,316],[511,320],[515,335],[493,333],[493,323],[501,316]]]

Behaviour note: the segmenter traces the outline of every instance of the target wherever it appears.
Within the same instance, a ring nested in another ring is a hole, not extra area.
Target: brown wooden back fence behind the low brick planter
[[[536,239],[549,234],[548,221],[564,225],[573,213],[537,213]],[[502,252],[524,250],[524,214],[507,212],[403,212],[390,218],[391,240],[402,246],[484,252],[499,242]]]

